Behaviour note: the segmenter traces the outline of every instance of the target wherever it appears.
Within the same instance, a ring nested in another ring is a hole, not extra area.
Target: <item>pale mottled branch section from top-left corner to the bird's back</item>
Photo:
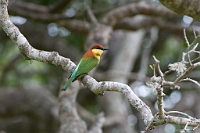
[[[24,57],[28,60],[34,59],[41,62],[50,62],[55,65],[62,65],[64,68],[66,68],[66,65],[69,68],[68,70],[73,70],[75,67],[74,63],[60,56],[57,52],[46,52],[33,48],[9,19],[7,4],[7,1],[2,0],[0,5],[0,25],[10,39],[17,44]]]

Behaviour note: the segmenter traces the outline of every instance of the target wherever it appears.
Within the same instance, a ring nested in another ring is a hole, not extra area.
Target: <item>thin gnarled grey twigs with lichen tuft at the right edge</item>
[[[200,124],[200,119],[196,119],[192,116],[189,116],[186,113],[183,112],[178,112],[178,111],[169,111],[169,112],[165,112],[164,111],[164,107],[163,107],[163,87],[164,86],[168,86],[168,87],[175,87],[175,88],[180,88],[177,84],[180,83],[181,81],[190,81],[193,82],[195,84],[197,84],[198,86],[199,83],[195,80],[186,78],[188,76],[188,74],[196,67],[200,66],[200,62],[196,62],[193,63],[192,59],[190,58],[189,54],[194,53],[194,52],[199,52],[199,51],[195,51],[195,49],[198,46],[198,43],[196,42],[197,36],[195,34],[195,41],[194,43],[190,44],[185,30],[184,30],[184,37],[186,40],[186,43],[188,45],[188,48],[186,50],[186,53],[183,53],[182,55],[182,61],[181,62],[175,62],[173,64],[169,64],[169,69],[171,71],[176,71],[178,73],[178,77],[173,81],[166,81],[165,80],[165,76],[166,74],[169,72],[165,72],[163,74],[163,72],[161,71],[160,68],[160,61],[156,59],[155,56],[153,56],[154,60],[155,60],[155,64],[154,64],[154,76],[151,78],[151,81],[148,83],[153,89],[157,90],[157,104],[158,104],[158,113],[154,116],[154,120],[153,122],[147,126],[146,129],[151,128],[152,126],[158,126],[158,125],[163,125],[165,123],[172,123],[172,124],[178,124],[178,125],[184,125],[184,131],[187,130],[188,126],[193,126],[194,129],[199,127]],[[196,42],[196,43],[195,43]],[[199,59],[198,57],[195,59]],[[190,66],[188,68],[186,68],[185,63],[188,63]],[[158,68],[158,73],[159,76],[155,76],[155,66],[157,66]],[[173,114],[177,114],[179,116],[172,116]],[[181,115],[181,116],[180,116]],[[186,118],[185,118],[186,117]],[[194,130],[193,129],[193,130]]]

